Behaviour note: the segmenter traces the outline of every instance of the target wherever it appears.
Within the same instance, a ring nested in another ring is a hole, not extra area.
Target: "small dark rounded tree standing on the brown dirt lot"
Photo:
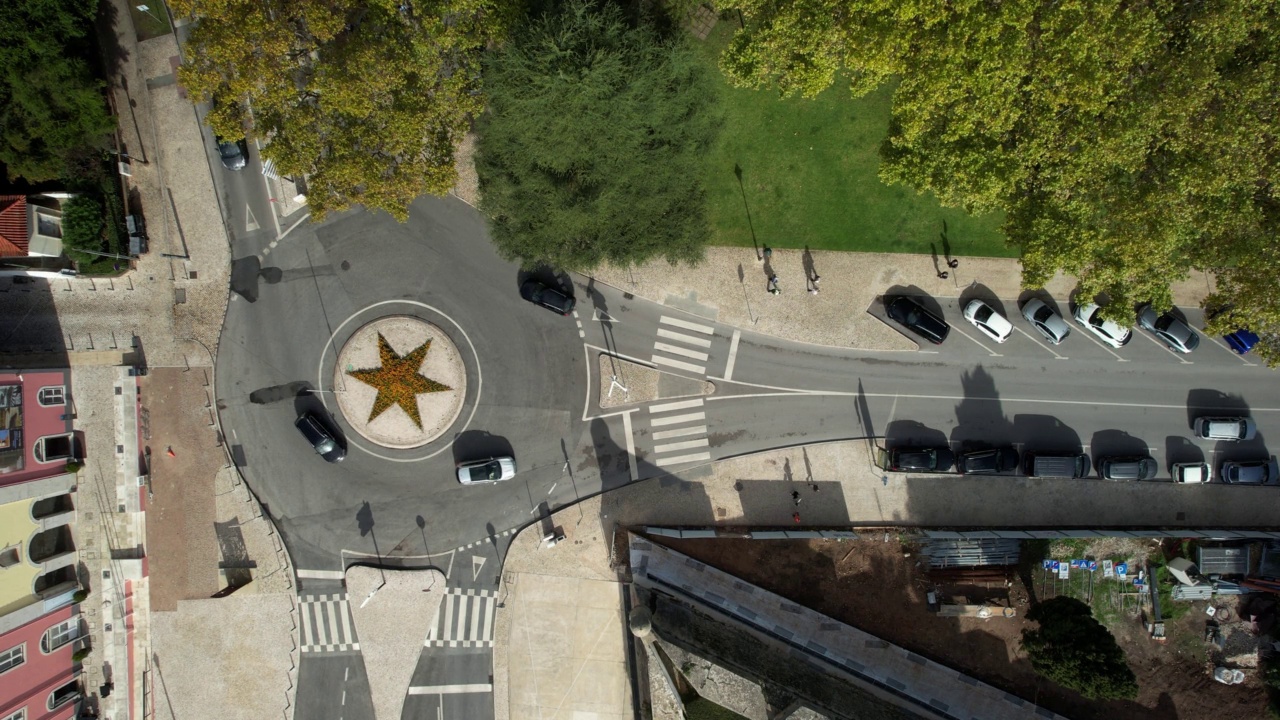
[[[1023,630],[1023,650],[1037,673],[1091,700],[1138,696],[1124,651],[1088,605],[1059,596],[1034,605],[1027,619],[1039,623],[1036,630]]]

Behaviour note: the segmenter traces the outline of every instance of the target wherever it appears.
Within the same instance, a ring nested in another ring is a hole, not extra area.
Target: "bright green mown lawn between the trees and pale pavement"
[[[722,20],[705,42],[695,41],[713,67],[736,27]],[[707,161],[713,245],[750,246],[754,227],[756,241],[773,247],[929,252],[934,242],[941,254],[945,228],[956,255],[1018,256],[1005,245],[1001,217],[970,217],[881,182],[892,88],[854,100],[837,82],[814,100],[783,100],[716,76],[724,126]]]

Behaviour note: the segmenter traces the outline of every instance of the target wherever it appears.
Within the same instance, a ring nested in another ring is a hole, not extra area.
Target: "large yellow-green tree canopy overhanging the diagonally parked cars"
[[[1270,0],[740,0],[731,82],[896,82],[881,177],[1004,210],[1023,281],[1064,270],[1133,320],[1217,272],[1213,332],[1280,361],[1280,6]]]

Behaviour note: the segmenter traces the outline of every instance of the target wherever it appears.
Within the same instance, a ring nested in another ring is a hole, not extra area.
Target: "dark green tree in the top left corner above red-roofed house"
[[[95,0],[17,0],[0,13],[0,163],[10,179],[68,174],[106,147],[115,119],[86,47]]]

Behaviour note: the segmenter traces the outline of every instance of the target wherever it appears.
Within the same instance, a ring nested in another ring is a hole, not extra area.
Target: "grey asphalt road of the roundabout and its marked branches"
[[[253,181],[261,177],[252,165],[219,178],[233,225],[236,208],[256,217],[265,202],[265,188],[259,192]],[[494,254],[477,214],[453,199],[417,201],[404,224],[357,210],[279,238],[257,223],[243,232],[233,227],[234,295],[216,365],[223,428],[303,578],[337,580],[351,562],[447,571],[449,597],[415,670],[406,717],[492,715],[492,614],[509,534],[636,479],[863,437],[957,450],[1010,443],[1094,456],[1149,452],[1162,468],[1199,457],[1216,466],[1268,455],[1266,438],[1280,432],[1280,386],[1271,372],[1213,338],[1181,357],[1143,331],[1111,350],[1075,327],[1050,347],[1016,316],[1018,299],[1004,299],[1019,331],[995,345],[959,313],[969,295],[983,293],[980,286],[936,302],[954,328],[943,346],[850,351],[736,331],[581,281],[579,313],[558,316],[520,299],[525,273]],[[293,428],[294,418],[334,413],[333,393],[342,389],[332,382],[337,348],[364,323],[403,314],[436,324],[462,352],[468,387],[460,420],[424,448],[388,451],[353,436],[339,414],[334,421],[347,436],[348,457],[324,462]],[[1196,313],[1188,315],[1198,324]],[[710,380],[717,392],[600,411],[593,401],[602,350],[668,378]],[[1194,442],[1190,420],[1206,413],[1252,414],[1258,438]],[[453,478],[456,461],[498,454],[517,457],[516,479],[463,487]],[[1130,502],[1133,489],[1098,483],[1089,492],[1098,502],[1112,492]],[[1016,505],[1004,518],[1015,525]],[[340,615],[348,598],[335,584]],[[326,652],[303,653],[298,710],[314,714],[298,716],[337,717],[321,708],[342,702],[360,715],[365,701],[343,696],[361,692],[358,653]]]

